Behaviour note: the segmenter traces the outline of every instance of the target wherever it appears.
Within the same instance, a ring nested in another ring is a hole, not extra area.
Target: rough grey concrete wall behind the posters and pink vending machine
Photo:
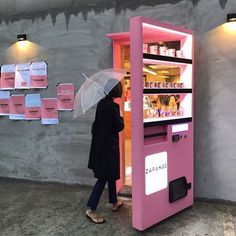
[[[234,0],[2,0],[0,63],[46,60],[49,88],[40,93],[55,97],[58,82],[73,82],[77,89],[83,82],[80,72],[89,76],[111,67],[111,42],[105,35],[127,31],[132,16],[193,29],[195,195],[236,201],[235,35],[218,27],[228,12],[236,12]],[[15,47],[20,33],[34,43],[30,53]],[[77,120],[70,112],[60,112],[57,126],[0,118],[0,176],[92,184],[87,159],[94,112]]]

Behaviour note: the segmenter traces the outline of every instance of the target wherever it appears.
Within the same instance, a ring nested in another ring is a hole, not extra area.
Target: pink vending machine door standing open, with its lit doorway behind
[[[125,68],[125,132],[118,189],[132,188],[132,223],[144,230],[193,204],[193,32],[141,16],[107,35]]]

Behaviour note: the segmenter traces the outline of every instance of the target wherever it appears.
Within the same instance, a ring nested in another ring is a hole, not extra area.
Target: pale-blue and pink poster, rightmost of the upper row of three
[[[30,65],[30,88],[47,88],[47,63],[32,62]]]

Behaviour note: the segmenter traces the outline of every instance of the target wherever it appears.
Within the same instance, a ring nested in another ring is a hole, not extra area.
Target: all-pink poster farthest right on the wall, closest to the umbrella
[[[72,83],[60,83],[57,85],[57,109],[59,111],[74,108],[75,88]]]

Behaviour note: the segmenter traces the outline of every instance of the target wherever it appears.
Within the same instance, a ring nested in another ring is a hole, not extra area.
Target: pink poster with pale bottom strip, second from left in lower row
[[[12,94],[10,97],[10,120],[24,120],[25,119],[25,95]]]

